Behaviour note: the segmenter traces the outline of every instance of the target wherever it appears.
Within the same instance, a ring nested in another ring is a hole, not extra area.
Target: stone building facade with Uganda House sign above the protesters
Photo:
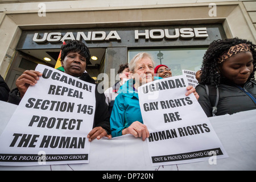
[[[54,67],[63,40],[70,39],[81,40],[98,57],[86,68],[97,81],[101,73],[111,80],[119,64],[141,51],[176,76],[182,69],[200,69],[213,40],[255,43],[256,1],[3,0],[0,22],[0,75],[10,88],[26,69]]]

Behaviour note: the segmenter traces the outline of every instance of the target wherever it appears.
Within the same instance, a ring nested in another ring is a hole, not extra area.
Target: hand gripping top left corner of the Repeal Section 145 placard
[[[21,98],[27,92],[28,86],[35,85],[39,80],[39,76],[42,76],[42,75],[43,74],[38,71],[26,70],[23,72],[22,75],[20,75],[17,78],[16,86],[19,89]]]

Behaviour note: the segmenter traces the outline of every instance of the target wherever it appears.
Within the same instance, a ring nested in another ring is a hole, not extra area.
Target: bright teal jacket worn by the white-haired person
[[[154,77],[154,80],[159,79],[161,78]],[[118,90],[118,96],[115,97],[110,117],[112,137],[121,136],[122,130],[129,127],[134,121],[143,123],[138,92],[134,90],[133,85],[133,79],[126,81]]]

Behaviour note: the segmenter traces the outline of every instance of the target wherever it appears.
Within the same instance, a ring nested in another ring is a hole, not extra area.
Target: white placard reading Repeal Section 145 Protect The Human
[[[0,137],[0,165],[89,163],[96,85],[38,65],[42,72]]]

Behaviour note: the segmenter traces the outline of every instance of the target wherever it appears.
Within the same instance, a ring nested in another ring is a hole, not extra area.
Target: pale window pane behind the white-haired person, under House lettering
[[[150,53],[156,66],[167,65],[172,76],[182,75],[182,69],[198,71],[201,68],[204,53],[207,48],[175,48],[175,49],[136,49],[128,53],[129,63],[139,52]]]

